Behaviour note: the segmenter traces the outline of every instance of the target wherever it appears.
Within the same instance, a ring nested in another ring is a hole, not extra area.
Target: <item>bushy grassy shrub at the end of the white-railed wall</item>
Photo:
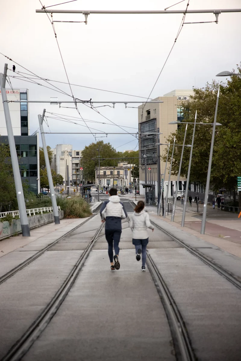
[[[64,211],[66,218],[85,218],[91,216],[90,205],[81,197],[57,198],[57,205]]]

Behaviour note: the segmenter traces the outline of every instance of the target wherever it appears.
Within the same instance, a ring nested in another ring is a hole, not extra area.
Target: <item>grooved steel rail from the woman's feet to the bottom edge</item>
[[[132,205],[131,202],[130,204]],[[180,354],[182,361],[197,360],[197,358],[194,355],[193,348],[191,347],[190,338],[185,323],[182,319],[181,313],[178,310],[178,307],[175,303],[175,300],[172,297],[171,292],[169,291],[167,285],[165,284],[164,279],[162,278],[158,268],[155,265],[155,262],[153,261],[148,251],[147,251],[146,265],[150,271],[151,277],[156,286],[156,290],[160,296],[164,310],[168,316],[167,318],[168,318],[176,354]],[[177,357],[177,359],[179,358]]]

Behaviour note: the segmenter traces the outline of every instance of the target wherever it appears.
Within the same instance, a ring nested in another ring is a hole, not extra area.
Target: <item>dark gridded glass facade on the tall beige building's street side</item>
[[[140,149],[140,163],[145,164],[145,148],[147,164],[157,163],[156,152],[156,134],[155,135],[141,135],[141,133],[156,133],[156,118],[152,118],[146,122],[139,123],[139,149]]]

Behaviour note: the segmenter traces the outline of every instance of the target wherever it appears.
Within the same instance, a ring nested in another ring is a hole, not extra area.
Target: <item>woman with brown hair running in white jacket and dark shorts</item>
[[[149,214],[145,212],[144,208],[145,203],[138,201],[129,222],[129,227],[133,232],[132,244],[135,246],[136,260],[139,261],[142,255],[142,271],[146,270],[146,246],[149,239],[147,228],[152,229],[152,232],[154,231]]]

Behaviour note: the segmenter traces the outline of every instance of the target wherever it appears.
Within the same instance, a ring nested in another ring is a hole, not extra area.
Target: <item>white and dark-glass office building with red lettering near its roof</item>
[[[28,89],[6,89],[8,100],[26,100]],[[27,102],[8,103],[16,144],[22,182],[29,184],[30,191],[40,192],[39,133],[30,135],[29,105]],[[8,133],[0,91],[0,142],[8,144]]]

